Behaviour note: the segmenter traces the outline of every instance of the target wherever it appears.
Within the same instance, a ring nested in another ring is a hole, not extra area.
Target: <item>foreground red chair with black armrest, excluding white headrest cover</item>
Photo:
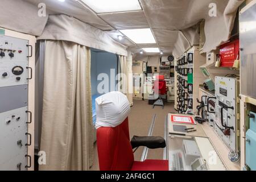
[[[98,161],[101,171],[168,171],[168,160],[134,161],[133,148],[166,147],[159,137],[133,137],[130,142],[128,118],[116,127],[97,129]],[[160,142],[159,142],[160,141]]]

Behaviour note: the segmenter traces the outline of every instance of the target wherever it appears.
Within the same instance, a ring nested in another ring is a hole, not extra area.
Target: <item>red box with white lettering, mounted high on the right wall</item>
[[[220,46],[221,67],[233,67],[234,61],[239,59],[239,39]]]

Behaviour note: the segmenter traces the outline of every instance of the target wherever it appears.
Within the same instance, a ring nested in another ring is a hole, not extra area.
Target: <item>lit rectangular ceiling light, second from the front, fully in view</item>
[[[155,44],[155,38],[150,28],[119,30],[135,44]]]

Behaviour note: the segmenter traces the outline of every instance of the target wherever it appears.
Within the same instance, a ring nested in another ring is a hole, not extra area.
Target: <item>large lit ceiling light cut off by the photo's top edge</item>
[[[142,10],[138,0],[81,0],[96,13]]]

